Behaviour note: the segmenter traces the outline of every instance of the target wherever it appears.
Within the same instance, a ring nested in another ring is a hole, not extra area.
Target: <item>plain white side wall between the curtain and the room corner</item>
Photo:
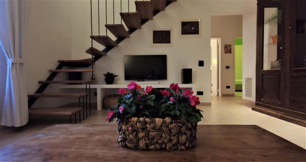
[[[21,1],[27,7],[27,22],[22,35],[22,57],[28,94],[34,93],[58,66],[59,59],[71,59],[71,15],[69,1]],[[67,74],[58,74],[63,80]],[[44,92],[61,92],[58,85],[49,85]],[[40,98],[33,107],[59,106],[67,99]],[[69,100],[68,100],[69,101]]]

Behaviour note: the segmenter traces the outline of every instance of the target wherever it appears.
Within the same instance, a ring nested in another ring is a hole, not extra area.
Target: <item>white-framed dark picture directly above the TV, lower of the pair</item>
[[[173,28],[151,28],[150,46],[173,46]]]

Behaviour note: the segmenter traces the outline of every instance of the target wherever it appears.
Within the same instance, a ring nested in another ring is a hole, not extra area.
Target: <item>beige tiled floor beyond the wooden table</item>
[[[211,106],[198,106],[203,111],[203,121],[198,124],[252,124],[258,125],[296,145],[306,149],[306,128],[251,110],[252,103],[241,96],[211,96]],[[105,121],[107,110],[92,110],[91,116],[80,124],[108,124]],[[0,148],[19,139],[35,134],[52,124],[68,123],[69,117],[44,116],[31,120],[21,128],[7,128],[0,131]],[[79,122],[78,122],[79,123]],[[110,123],[110,124],[114,124]]]

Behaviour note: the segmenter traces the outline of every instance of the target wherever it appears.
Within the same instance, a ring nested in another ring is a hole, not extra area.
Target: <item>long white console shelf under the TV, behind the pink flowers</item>
[[[147,86],[152,86],[153,88],[169,88],[169,85],[171,84],[146,84],[146,83],[140,83],[137,82],[138,85],[141,86],[142,89],[146,88]],[[127,84],[120,84],[120,85],[90,85],[91,89],[97,89],[97,106],[98,110],[101,110],[103,108],[102,101],[104,98],[104,91],[103,89],[106,88],[127,88]],[[179,84],[181,88],[191,88],[193,92],[196,92],[197,84]],[[87,85],[88,87],[88,85]],[[85,88],[85,85],[60,85],[60,88]]]

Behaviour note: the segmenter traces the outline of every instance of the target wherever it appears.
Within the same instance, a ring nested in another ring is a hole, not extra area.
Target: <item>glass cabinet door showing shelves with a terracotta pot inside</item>
[[[263,9],[263,70],[281,69],[282,1],[272,0]]]

